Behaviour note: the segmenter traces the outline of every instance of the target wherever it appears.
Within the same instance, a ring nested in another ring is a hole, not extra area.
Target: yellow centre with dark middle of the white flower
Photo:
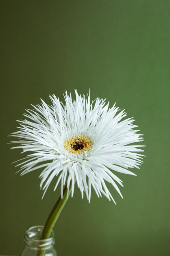
[[[70,153],[82,154],[85,151],[89,151],[92,148],[92,141],[85,137],[84,135],[76,135],[75,137],[70,137],[64,142],[64,147]]]

